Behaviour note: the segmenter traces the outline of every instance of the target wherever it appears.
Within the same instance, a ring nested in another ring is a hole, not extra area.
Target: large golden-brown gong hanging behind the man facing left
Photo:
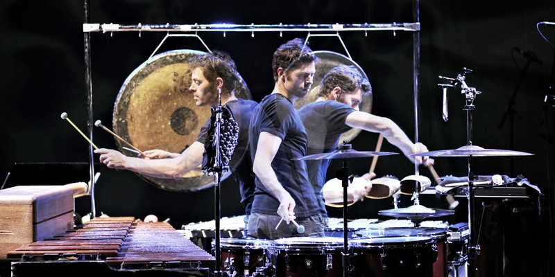
[[[210,107],[197,107],[192,93],[191,69],[187,62],[205,52],[175,50],[160,53],[133,71],[119,90],[115,105],[114,132],[139,150],[161,149],[183,152],[196,141],[200,127],[210,118]],[[250,91],[239,75],[235,95],[250,99]],[[128,155],[135,153],[117,148]],[[180,179],[160,179],[139,175],[164,190],[190,192],[214,185],[214,177],[200,171]]]

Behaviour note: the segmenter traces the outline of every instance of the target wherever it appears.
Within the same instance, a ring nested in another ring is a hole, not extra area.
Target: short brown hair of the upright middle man
[[[273,80],[278,81],[278,69],[281,67],[285,71],[296,69],[300,64],[307,62],[318,62],[320,60],[309,46],[302,43],[302,39],[291,39],[289,42],[282,44],[278,50],[273,53],[272,70]]]

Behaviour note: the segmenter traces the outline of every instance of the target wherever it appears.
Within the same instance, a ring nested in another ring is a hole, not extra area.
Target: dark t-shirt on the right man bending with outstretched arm
[[[352,129],[345,124],[345,119],[353,111],[356,109],[334,100],[311,102],[302,106],[298,113],[307,133],[307,155],[336,150],[341,134]],[[314,190],[318,192],[318,201],[324,212],[322,187],[329,165],[329,159],[307,160],[309,179]]]

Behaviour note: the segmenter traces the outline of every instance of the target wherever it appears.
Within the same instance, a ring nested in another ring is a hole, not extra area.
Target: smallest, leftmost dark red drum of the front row
[[[222,238],[220,248],[221,270],[228,276],[273,275],[273,241]]]

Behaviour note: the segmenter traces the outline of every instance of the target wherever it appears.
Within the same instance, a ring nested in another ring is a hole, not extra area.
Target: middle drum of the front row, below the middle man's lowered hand
[[[343,238],[296,237],[275,240],[275,275],[342,276]]]

